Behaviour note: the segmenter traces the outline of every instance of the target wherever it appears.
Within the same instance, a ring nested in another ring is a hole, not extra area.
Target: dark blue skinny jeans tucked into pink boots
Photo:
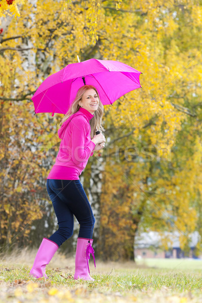
[[[62,245],[73,234],[74,216],[79,222],[79,237],[92,238],[95,219],[80,180],[47,179],[47,192],[52,200],[59,229],[49,237]]]

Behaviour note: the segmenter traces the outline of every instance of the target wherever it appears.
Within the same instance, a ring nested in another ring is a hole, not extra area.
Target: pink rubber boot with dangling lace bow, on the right
[[[86,238],[78,238],[77,246],[76,246],[76,259],[75,259],[75,274],[74,280],[83,279],[88,281],[94,281],[93,278],[90,277],[88,261],[90,259],[90,254],[94,260],[94,249],[92,248],[93,239]],[[95,260],[94,260],[95,266]]]

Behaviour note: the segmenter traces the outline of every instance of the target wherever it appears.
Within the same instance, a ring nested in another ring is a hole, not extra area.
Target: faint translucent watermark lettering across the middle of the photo
[[[56,165],[65,166],[65,163],[73,161],[75,165],[81,162],[92,162],[95,157],[100,162],[151,162],[151,161],[168,161],[171,162],[171,148],[167,146],[144,145],[137,147],[135,145],[115,145],[109,144],[106,147],[90,153],[89,147],[77,146],[72,153],[70,146],[60,147],[60,151],[52,146],[40,145],[32,148],[34,155],[33,162],[41,162],[41,155],[55,157]],[[90,157],[89,156],[92,156]]]

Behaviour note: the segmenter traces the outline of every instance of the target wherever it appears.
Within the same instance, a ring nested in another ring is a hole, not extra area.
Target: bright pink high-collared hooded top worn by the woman
[[[58,130],[62,139],[60,149],[47,179],[79,180],[95,147],[90,138],[92,117],[90,112],[80,108],[62,124]]]

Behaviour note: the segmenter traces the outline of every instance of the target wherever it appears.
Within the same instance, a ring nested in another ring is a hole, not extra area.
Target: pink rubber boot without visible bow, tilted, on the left
[[[54,241],[43,238],[29,274],[35,278],[47,278],[45,266],[51,261],[58,247]]]

